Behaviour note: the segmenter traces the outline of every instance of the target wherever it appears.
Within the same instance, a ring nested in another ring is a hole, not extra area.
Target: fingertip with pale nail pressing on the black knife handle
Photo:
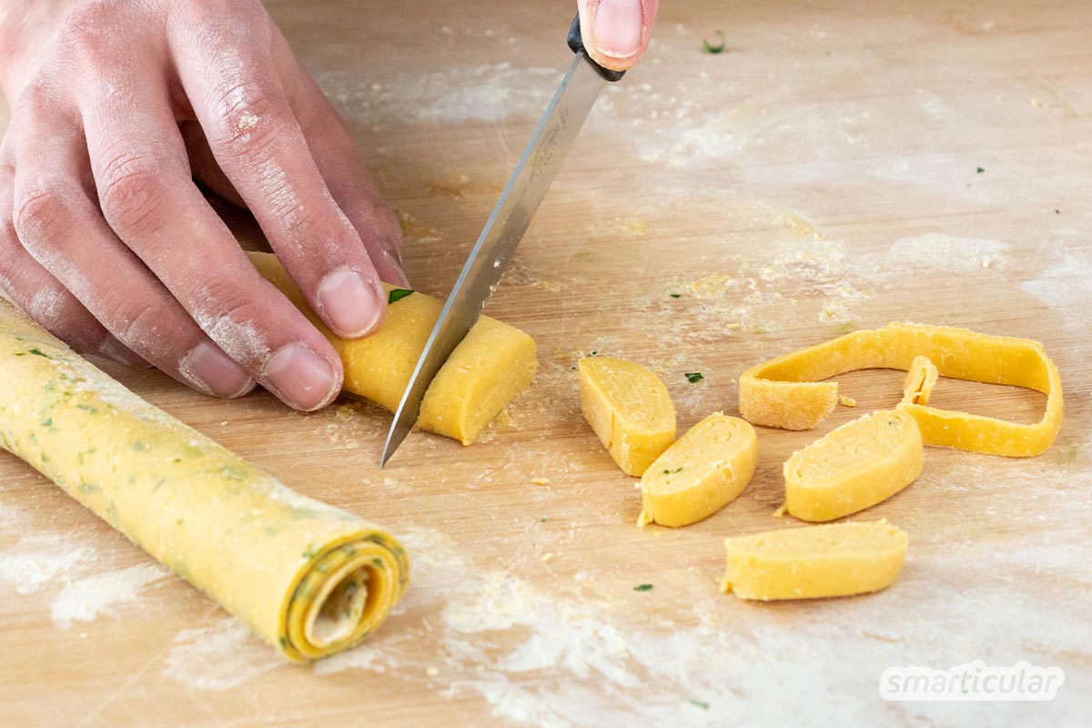
[[[584,47],[613,71],[626,71],[652,39],[660,0],[577,0]]]

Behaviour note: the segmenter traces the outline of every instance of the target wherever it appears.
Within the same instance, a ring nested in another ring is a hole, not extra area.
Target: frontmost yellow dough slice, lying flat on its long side
[[[899,578],[909,541],[887,521],[736,536],[724,541],[721,590],[764,601],[877,592]]]

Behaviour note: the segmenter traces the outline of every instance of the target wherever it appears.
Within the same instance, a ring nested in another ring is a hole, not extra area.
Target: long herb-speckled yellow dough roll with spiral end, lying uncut
[[[147,404],[0,299],[0,444],[294,660],[378,626],[395,539]]]

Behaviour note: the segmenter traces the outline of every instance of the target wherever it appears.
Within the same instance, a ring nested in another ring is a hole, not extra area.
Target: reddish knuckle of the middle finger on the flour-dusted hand
[[[110,226],[138,235],[155,226],[165,196],[162,177],[145,157],[128,152],[109,156],[98,174],[98,198]]]

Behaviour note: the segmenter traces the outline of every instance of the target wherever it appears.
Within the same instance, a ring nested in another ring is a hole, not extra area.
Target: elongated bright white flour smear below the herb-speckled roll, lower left
[[[146,587],[168,576],[170,572],[157,563],[139,563],[74,581],[50,605],[54,624],[67,630],[72,622],[112,614],[117,607],[135,601]]]

